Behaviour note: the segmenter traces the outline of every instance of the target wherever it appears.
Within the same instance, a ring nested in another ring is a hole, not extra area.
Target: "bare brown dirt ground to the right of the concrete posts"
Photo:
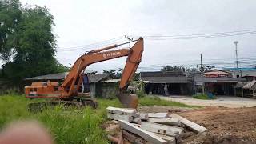
[[[201,134],[186,132],[180,143],[256,143],[256,107],[209,106],[190,109],[171,106],[138,106],[138,111],[176,113],[207,128],[206,132]],[[110,123],[107,125],[111,126]]]

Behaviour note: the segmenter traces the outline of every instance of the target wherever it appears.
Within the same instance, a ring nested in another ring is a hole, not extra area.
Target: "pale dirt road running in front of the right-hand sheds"
[[[241,98],[241,97],[218,97],[214,100],[202,100],[202,99],[194,99],[191,96],[171,96],[171,97],[163,97],[158,96],[161,99],[182,102],[187,105],[194,106],[224,106],[224,107],[253,107],[256,106],[256,99],[253,98]]]

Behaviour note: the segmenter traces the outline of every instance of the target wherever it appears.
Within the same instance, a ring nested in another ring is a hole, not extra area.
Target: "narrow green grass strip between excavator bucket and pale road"
[[[156,96],[146,96],[139,99],[139,104],[142,106],[179,106],[179,107],[198,107],[186,105],[182,102],[166,101]]]

